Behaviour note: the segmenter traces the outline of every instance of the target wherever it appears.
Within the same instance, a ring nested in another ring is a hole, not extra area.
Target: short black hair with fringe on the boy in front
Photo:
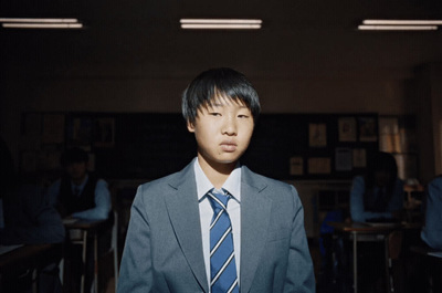
[[[194,123],[198,109],[211,105],[217,95],[241,101],[256,122],[261,112],[260,98],[244,74],[228,67],[211,69],[200,73],[182,94],[182,116]]]

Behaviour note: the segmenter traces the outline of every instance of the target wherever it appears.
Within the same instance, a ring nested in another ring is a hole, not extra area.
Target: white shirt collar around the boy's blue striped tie
[[[198,200],[200,201],[206,193],[211,190],[213,185],[207,178],[204,171],[201,169],[201,166],[198,161],[198,157],[193,160],[194,168],[194,177],[197,180],[197,192]],[[238,201],[241,202],[241,167],[240,164],[236,164],[235,168],[229,175],[228,179],[222,186],[223,189],[229,191],[229,193]]]

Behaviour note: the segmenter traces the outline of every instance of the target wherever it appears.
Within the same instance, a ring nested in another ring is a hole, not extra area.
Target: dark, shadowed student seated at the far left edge
[[[12,156],[0,139],[0,244],[63,243],[64,227],[56,210],[44,197],[43,188],[23,180],[14,171]],[[55,245],[51,255],[36,263],[39,293],[62,292],[59,263],[62,247]],[[32,271],[7,272],[0,292],[31,292]]]

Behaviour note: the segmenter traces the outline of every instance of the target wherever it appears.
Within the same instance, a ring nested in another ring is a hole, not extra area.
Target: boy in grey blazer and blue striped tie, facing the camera
[[[118,292],[314,292],[295,188],[239,164],[260,113],[250,82],[231,69],[203,72],[182,113],[197,158],[138,188]]]

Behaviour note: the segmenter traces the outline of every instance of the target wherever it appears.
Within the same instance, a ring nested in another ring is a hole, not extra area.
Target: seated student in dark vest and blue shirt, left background
[[[107,182],[88,172],[88,155],[81,148],[67,149],[61,157],[65,170],[48,190],[51,203],[63,218],[105,220],[112,203]]]

